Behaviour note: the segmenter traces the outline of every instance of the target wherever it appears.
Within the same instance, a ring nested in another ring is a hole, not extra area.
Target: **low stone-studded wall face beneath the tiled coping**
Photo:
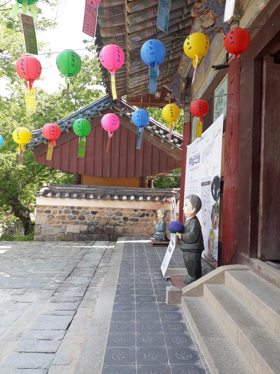
[[[158,205],[158,209],[163,208]],[[37,205],[36,241],[111,240],[152,237],[157,209]],[[169,211],[165,218],[169,223]]]

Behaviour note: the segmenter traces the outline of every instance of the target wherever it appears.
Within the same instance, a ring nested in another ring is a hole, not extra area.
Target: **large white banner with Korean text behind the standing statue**
[[[202,255],[215,267],[218,259],[223,120],[222,114],[201,138],[188,145],[184,196],[194,194],[202,201],[202,208],[197,213],[205,248]]]

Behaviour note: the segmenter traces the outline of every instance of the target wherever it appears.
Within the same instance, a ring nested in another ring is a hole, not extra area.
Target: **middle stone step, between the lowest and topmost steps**
[[[257,374],[279,374],[280,339],[227,286],[205,284],[203,296]]]

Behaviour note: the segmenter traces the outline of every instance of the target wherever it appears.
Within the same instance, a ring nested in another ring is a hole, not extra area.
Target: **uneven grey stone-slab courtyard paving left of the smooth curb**
[[[0,374],[74,373],[114,245],[0,242]]]

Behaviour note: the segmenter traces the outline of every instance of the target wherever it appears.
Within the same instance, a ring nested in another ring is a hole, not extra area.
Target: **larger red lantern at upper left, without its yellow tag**
[[[21,56],[16,60],[16,72],[25,80],[26,88],[28,88],[27,81],[29,81],[29,88],[31,89],[34,80],[41,75],[42,66],[34,56]]]

